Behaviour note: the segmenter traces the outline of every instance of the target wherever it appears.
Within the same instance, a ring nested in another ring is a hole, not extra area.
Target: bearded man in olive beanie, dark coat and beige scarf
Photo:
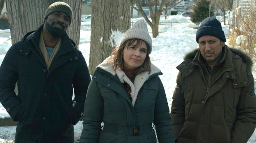
[[[13,44],[1,64],[0,102],[18,121],[15,143],[74,142],[91,78],[66,33],[72,17],[68,4],[53,3],[45,23]]]

